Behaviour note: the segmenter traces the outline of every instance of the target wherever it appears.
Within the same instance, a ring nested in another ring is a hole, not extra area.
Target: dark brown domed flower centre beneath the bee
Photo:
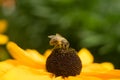
[[[80,74],[82,68],[81,60],[75,49],[53,49],[47,58],[46,69],[55,76],[76,76]]]

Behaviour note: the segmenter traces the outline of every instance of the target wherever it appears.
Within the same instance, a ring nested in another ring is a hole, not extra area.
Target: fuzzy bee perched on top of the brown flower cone
[[[69,48],[69,42],[60,34],[50,35],[48,36],[48,38],[51,39],[49,42],[50,45],[54,46],[55,48],[65,48],[65,49]]]

